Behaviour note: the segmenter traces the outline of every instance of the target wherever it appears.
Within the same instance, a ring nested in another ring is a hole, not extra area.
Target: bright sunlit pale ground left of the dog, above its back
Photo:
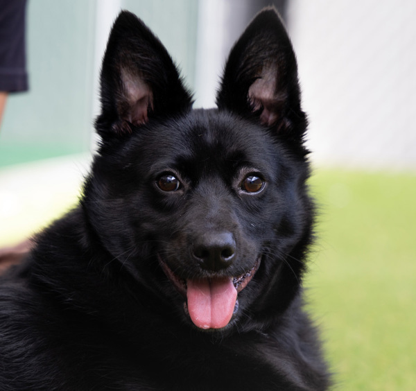
[[[42,229],[78,200],[91,155],[69,155],[0,169],[0,247]]]

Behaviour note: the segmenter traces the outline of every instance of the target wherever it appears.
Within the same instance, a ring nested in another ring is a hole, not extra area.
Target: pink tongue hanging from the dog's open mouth
[[[227,326],[236,305],[237,290],[232,278],[187,281],[188,311],[201,329]]]

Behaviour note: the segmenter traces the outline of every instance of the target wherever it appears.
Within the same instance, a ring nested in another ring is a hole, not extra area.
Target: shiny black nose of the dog
[[[193,243],[193,256],[206,270],[218,271],[232,264],[236,241],[231,232],[206,233]]]

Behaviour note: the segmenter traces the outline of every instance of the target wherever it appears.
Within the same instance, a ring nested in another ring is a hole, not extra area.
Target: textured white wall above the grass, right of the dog
[[[416,170],[416,1],[290,4],[315,162]]]

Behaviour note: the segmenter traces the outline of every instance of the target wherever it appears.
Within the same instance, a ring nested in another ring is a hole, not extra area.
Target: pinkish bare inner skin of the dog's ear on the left
[[[146,82],[139,76],[123,70],[121,72],[128,110],[124,113],[125,121],[133,125],[143,125],[148,121],[148,108],[153,108],[153,94]]]

